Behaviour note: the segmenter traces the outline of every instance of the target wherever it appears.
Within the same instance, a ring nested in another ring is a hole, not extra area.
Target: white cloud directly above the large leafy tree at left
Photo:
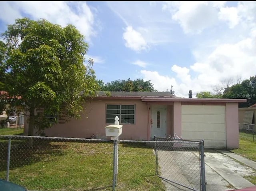
[[[0,20],[6,24],[25,15],[62,26],[73,24],[87,40],[96,35],[95,16],[86,2],[0,2]]]

